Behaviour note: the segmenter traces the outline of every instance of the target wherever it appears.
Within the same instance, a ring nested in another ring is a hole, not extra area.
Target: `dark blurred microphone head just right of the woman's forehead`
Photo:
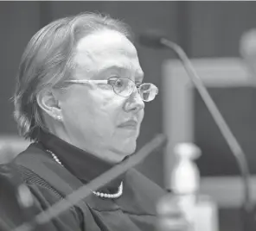
[[[138,43],[145,47],[164,48],[161,42],[164,36],[156,31],[148,31],[138,36]]]

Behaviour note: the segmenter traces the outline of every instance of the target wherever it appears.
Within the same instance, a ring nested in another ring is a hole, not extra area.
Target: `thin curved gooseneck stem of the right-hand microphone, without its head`
[[[160,43],[163,46],[169,47],[171,50],[175,51],[178,55],[179,59],[182,61],[182,64],[191,78],[193,84],[197,91],[199,91],[204,103],[206,104],[208,110],[214,118],[214,122],[217,124],[218,128],[221,130],[221,134],[224,136],[225,140],[227,140],[227,144],[231,149],[232,153],[234,153],[234,157],[237,160],[237,163],[240,168],[240,174],[243,182],[243,190],[244,190],[244,202],[242,205],[243,209],[243,221],[245,222],[245,230],[250,230],[252,227],[252,212],[253,212],[253,203],[252,198],[250,197],[250,173],[248,170],[248,165],[246,161],[246,155],[240,147],[239,142],[234,137],[234,134],[231,132],[230,128],[227,126],[227,122],[225,122],[223,116],[213,99],[210,97],[206,87],[203,85],[201,78],[195,72],[194,67],[192,66],[188,56],[182,50],[182,47],[178,46],[176,43],[169,41],[165,38],[160,39]]]

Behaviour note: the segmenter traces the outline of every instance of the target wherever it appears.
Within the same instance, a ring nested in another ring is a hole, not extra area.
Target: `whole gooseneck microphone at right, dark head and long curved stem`
[[[202,79],[199,78],[195,72],[195,68],[192,66],[187,54],[182,50],[182,47],[178,46],[175,42],[166,39],[163,34],[157,34],[154,31],[150,31],[144,34],[141,34],[138,37],[138,42],[145,47],[152,48],[169,48],[174,51],[178,58],[182,61],[189,78],[195,85],[195,88],[200,93],[203,102],[206,104],[210,114],[214,118],[214,122],[217,124],[218,128],[221,130],[221,134],[224,136],[224,139],[227,141],[229,148],[231,149],[234,157],[237,161],[237,164],[240,168],[241,178],[243,180],[243,190],[244,190],[244,201],[243,209],[245,209],[246,214],[249,215],[253,209],[253,203],[250,196],[249,188],[249,170],[248,164],[246,162],[246,155],[240,147],[239,142],[234,137],[234,134],[231,132],[230,128],[227,126],[227,122],[224,120],[221,115],[220,110],[217,108],[216,104],[212,97],[210,97],[207,88],[202,83]]]

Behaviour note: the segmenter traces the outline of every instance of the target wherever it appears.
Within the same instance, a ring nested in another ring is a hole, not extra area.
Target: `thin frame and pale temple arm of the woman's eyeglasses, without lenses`
[[[157,88],[157,86],[156,86],[155,84],[151,84],[151,83],[136,84],[136,83],[135,83],[133,80],[131,80],[130,78],[109,78],[109,79],[102,79],[102,80],[97,80],[97,79],[69,79],[69,80],[64,81],[64,83],[73,83],[73,84],[86,84],[86,83],[89,83],[89,84],[90,84],[91,82],[93,82],[93,83],[95,83],[95,84],[109,84],[109,85],[112,86],[112,90],[115,92],[115,94],[117,94],[119,97],[124,97],[124,96],[119,95],[119,94],[115,91],[114,84],[116,83],[116,81],[118,81],[118,79],[129,79],[131,82],[134,83],[134,86],[137,88],[138,92],[140,91],[141,86],[144,85],[144,84],[153,85],[153,86],[156,88],[156,95],[155,95],[155,97],[156,97],[157,94],[158,94],[158,88]],[[113,81],[113,82],[112,82],[112,81]],[[133,90],[133,91],[134,91],[134,90]],[[131,94],[132,94],[133,91],[131,91]],[[130,97],[131,94],[130,94],[129,96],[127,96],[127,97]],[[140,95],[140,94],[139,94],[139,95]],[[153,101],[153,100],[155,99],[155,97],[154,97],[152,100],[150,100],[150,101]],[[141,97],[141,98],[142,98],[142,97]],[[150,101],[144,100],[143,98],[142,98],[142,100],[143,100],[144,102],[150,102]]]

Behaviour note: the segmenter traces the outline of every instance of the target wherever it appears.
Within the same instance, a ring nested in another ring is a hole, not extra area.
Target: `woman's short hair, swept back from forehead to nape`
[[[69,78],[74,70],[77,42],[102,29],[118,31],[133,41],[127,24],[99,13],[61,18],[39,30],[29,41],[22,54],[13,97],[14,117],[19,134],[25,139],[37,140],[40,129],[46,128],[37,94]]]

